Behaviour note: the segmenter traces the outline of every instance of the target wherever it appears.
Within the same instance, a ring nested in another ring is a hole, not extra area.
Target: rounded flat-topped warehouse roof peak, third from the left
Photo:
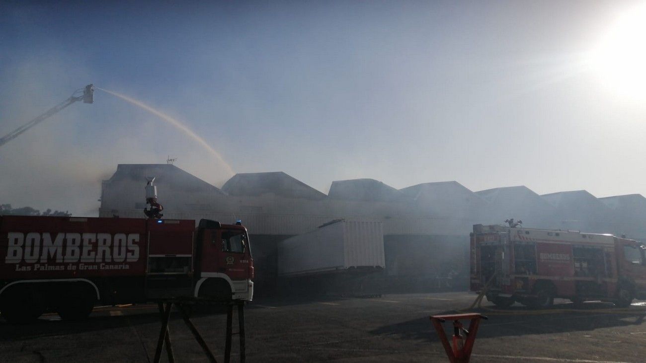
[[[379,180],[352,179],[332,182],[328,196],[341,200],[393,202],[401,200],[403,193]]]

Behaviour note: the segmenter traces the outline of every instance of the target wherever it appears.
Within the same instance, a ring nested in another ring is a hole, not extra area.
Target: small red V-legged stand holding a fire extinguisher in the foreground
[[[455,315],[433,315],[431,316],[431,322],[439,335],[448,355],[448,359],[451,363],[468,363],[471,358],[471,350],[474,348],[475,334],[478,331],[478,326],[480,325],[480,319],[487,319],[485,315],[469,313],[469,314],[455,314]],[[460,320],[470,319],[469,329],[466,330],[462,326]],[[449,344],[448,339],[446,338],[446,333],[444,333],[444,327],[442,326],[443,322],[446,320],[453,321],[453,346]],[[464,333],[464,335],[463,335]],[[463,340],[463,337],[466,339]]]

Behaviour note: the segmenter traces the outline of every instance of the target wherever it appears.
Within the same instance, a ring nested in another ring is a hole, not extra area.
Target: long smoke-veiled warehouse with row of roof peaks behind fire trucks
[[[386,292],[466,288],[469,233],[477,223],[520,218],[526,227],[646,236],[646,198],[636,194],[539,196],[522,186],[473,192],[457,182],[398,190],[371,179],[335,181],[324,194],[284,172],[236,174],[219,189],[169,164],[118,165],[102,183],[99,216],[143,218],[146,176],[156,177],[164,218],[243,221],[258,295],[275,289],[278,242],[339,219],[382,224]]]

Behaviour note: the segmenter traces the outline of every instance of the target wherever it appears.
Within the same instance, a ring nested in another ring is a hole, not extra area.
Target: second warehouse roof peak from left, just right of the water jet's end
[[[222,186],[234,196],[260,196],[275,194],[289,198],[322,199],[326,195],[306,183],[279,172],[249,172],[235,174]]]

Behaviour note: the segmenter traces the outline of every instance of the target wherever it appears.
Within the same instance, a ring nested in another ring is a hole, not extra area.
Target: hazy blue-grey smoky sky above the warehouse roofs
[[[182,121],[235,172],[323,192],[373,178],[646,194],[646,77],[625,61],[646,64],[646,30],[633,43],[615,31],[646,14],[637,4],[3,1],[0,136],[94,83]],[[215,185],[230,177],[97,90],[0,147],[0,203],[93,215],[118,163],[169,155]]]

